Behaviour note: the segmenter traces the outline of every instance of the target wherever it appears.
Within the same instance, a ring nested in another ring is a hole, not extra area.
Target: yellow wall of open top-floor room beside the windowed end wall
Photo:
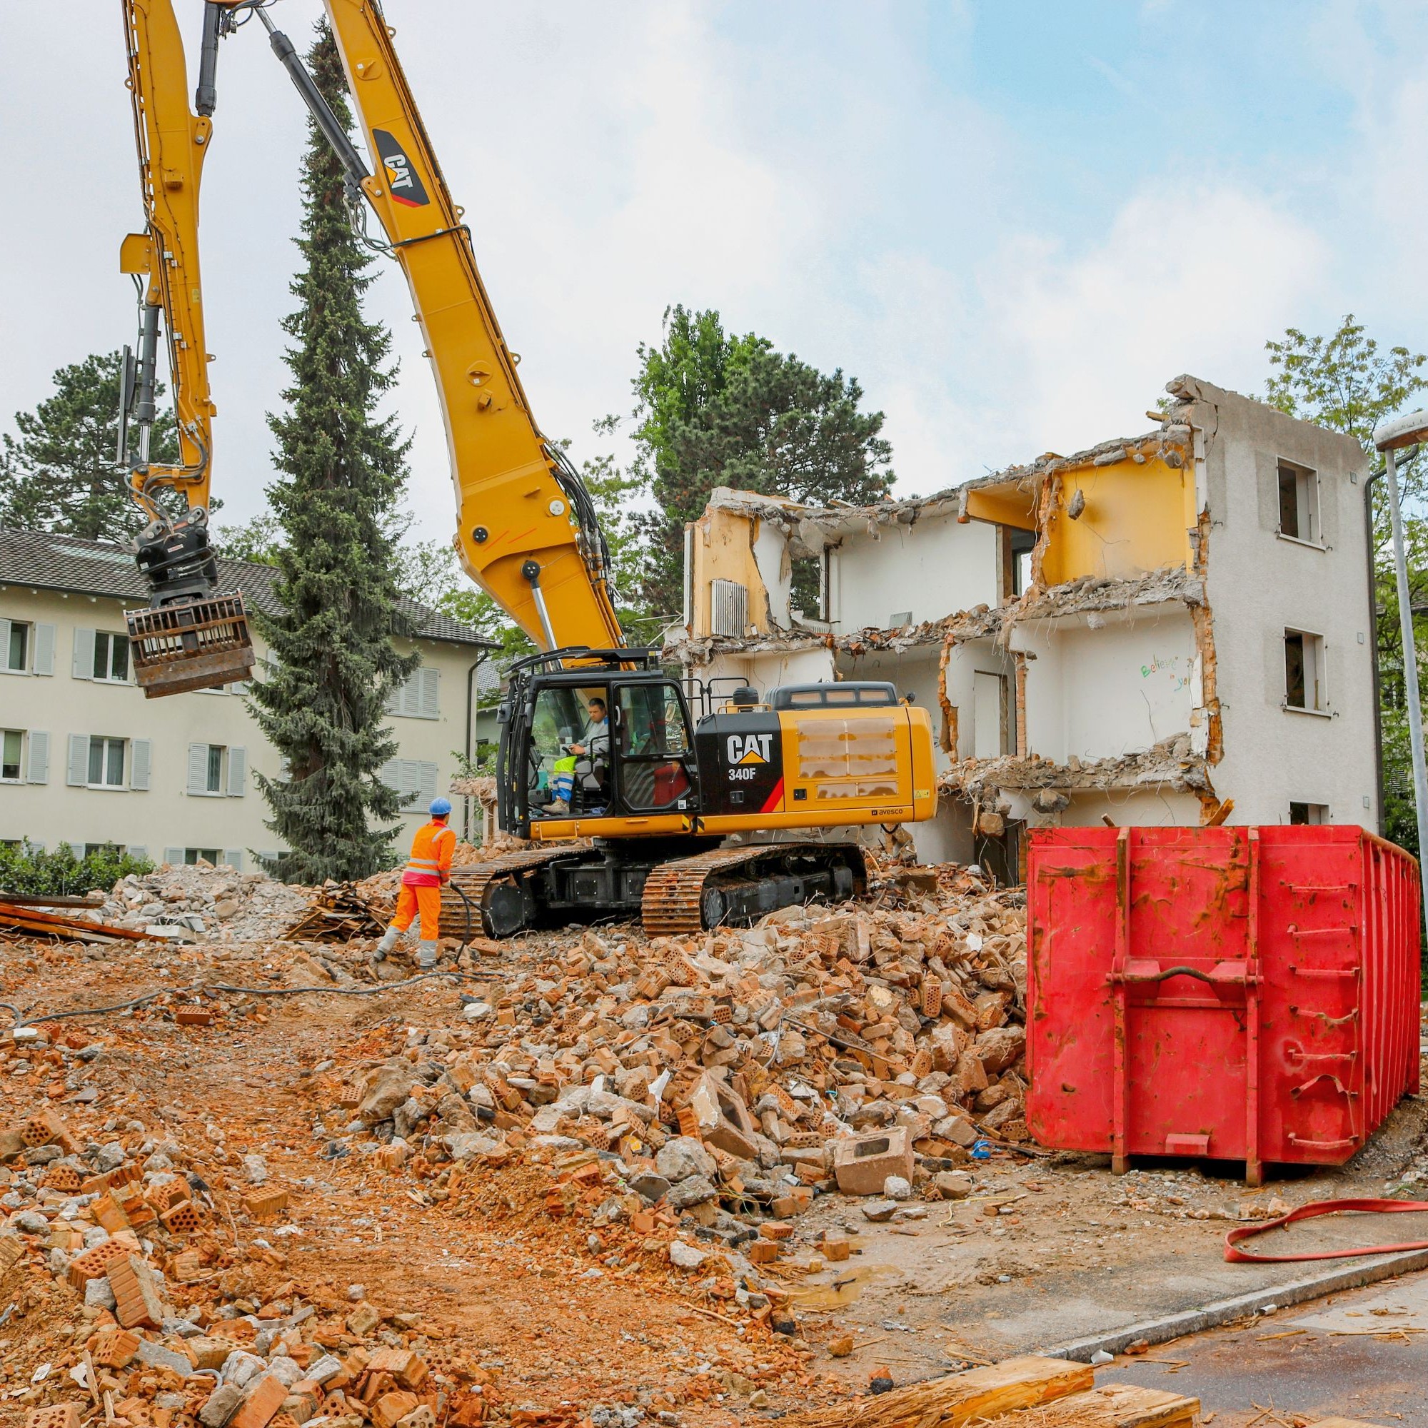
[[[1077,490],[1085,493],[1085,510],[1071,520],[1065,507]],[[1190,464],[1177,470],[1151,457],[1144,464],[1127,458],[1064,471],[1047,524],[1042,583],[1060,585],[1078,575],[1131,580],[1165,565],[1188,568],[1194,524]]]

